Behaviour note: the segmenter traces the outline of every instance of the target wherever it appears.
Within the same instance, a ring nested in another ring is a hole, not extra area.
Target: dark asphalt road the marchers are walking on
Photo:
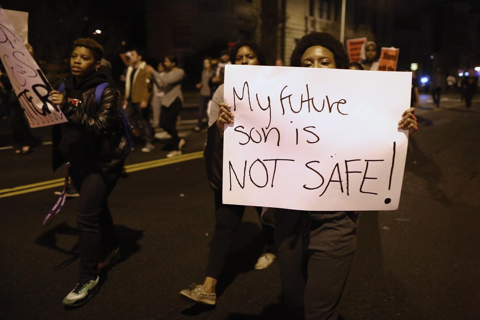
[[[480,101],[465,111],[457,95],[434,108],[422,94],[419,132],[410,137],[397,211],[362,212],[358,243],[341,312],[359,319],[479,319]],[[48,128],[43,144],[13,155],[0,120],[0,319],[288,319],[281,303],[278,264],[253,269],[262,250],[259,222],[248,209],[225,272],[216,307],[178,296],[203,281],[214,226],[202,149],[193,132],[195,109],[182,114],[185,154],[137,148],[128,177],[110,197],[123,260],[102,278],[85,306],[65,309],[73,288],[75,205],[44,227],[64,170],[52,173]]]

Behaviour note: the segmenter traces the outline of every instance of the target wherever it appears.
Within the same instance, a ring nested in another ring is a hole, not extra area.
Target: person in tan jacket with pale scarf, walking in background
[[[140,137],[145,141],[142,152],[150,152],[154,149],[149,110],[151,84],[147,63],[142,58],[142,51],[138,49],[130,51],[130,65],[125,75],[125,114],[133,124],[134,130],[138,129]]]

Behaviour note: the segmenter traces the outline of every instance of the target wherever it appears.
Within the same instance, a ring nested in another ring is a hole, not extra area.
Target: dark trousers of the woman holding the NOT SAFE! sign
[[[275,245],[287,308],[306,320],[337,319],[356,248],[347,212],[278,209]]]

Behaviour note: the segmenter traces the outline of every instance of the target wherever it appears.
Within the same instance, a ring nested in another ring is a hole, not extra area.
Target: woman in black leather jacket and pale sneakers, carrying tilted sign
[[[65,89],[50,92],[52,102],[68,119],[53,127],[53,170],[67,163],[80,193],[80,275],[63,300],[69,306],[86,303],[98,291],[99,269],[119,256],[107,199],[122,172],[128,148],[122,134],[118,90],[107,85],[100,101],[95,98],[96,88],[108,82],[107,74],[100,69],[103,51],[93,39],[76,39]]]

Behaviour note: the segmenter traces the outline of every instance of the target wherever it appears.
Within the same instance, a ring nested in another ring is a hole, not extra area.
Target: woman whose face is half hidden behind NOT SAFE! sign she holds
[[[344,46],[328,33],[302,37],[292,52],[292,67],[348,69]],[[233,123],[231,107],[221,104],[217,126]],[[417,130],[414,109],[402,114],[398,129]],[[374,125],[374,123],[372,124]],[[356,212],[266,210],[262,216],[275,227],[275,245],[285,303],[305,319],[337,319],[356,248]]]

